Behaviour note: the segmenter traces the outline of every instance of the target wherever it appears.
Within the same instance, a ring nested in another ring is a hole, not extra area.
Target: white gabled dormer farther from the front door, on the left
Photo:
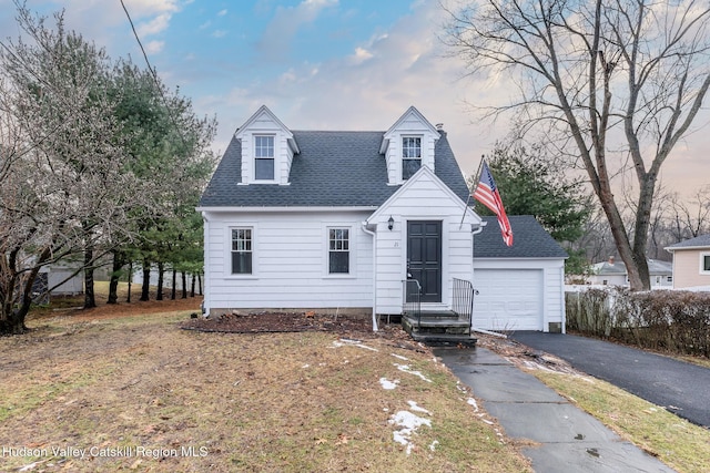
[[[242,142],[242,185],[288,185],[298,145],[293,133],[266,105],[240,126],[234,137]]]

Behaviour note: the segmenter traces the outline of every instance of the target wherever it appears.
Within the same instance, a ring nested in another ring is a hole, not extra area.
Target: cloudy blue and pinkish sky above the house
[[[471,104],[506,103],[509,86],[464,79],[438,38],[435,0],[124,0],[151,64],[200,115],[216,115],[223,151],[234,130],[266,104],[292,130],[386,130],[416,106],[444,123],[465,174],[506,133]],[[120,0],[27,0],[65,10],[70,29],[113,58],[144,59]],[[17,38],[12,0],[0,0],[2,40]],[[707,119],[704,119],[707,124]],[[706,128],[708,128],[706,126]],[[679,191],[710,183],[708,133],[678,146],[663,182]],[[676,184],[678,183],[678,184]],[[682,183],[682,184],[681,184]]]

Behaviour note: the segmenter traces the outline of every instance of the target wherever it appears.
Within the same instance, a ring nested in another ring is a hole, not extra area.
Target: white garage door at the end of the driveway
[[[475,269],[474,327],[542,330],[542,270]]]

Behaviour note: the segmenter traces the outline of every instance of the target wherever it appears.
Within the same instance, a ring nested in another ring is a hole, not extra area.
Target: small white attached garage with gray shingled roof
[[[474,237],[473,327],[565,331],[567,253],[535,217],[511,216],[515,243],[507,247],[495,217]]]

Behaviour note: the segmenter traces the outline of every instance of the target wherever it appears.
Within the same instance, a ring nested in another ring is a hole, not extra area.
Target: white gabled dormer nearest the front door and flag
[[[387,184],[404,184],[422,166],[435,171],[434,147],[439,136],[424,115],[410,106],[385,132],[379,146],[387,161]]]

